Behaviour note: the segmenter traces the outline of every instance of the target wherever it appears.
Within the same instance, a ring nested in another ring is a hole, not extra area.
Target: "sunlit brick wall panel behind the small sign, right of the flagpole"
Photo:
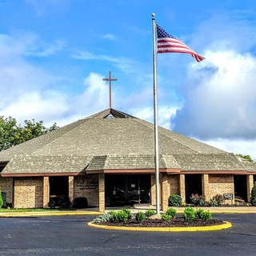
[[[209,190],[207,197],[212,198],[216,194],[234,195],[234,176],[233,174],[209,174]],[[234,203],[226,200],[225,203]]]

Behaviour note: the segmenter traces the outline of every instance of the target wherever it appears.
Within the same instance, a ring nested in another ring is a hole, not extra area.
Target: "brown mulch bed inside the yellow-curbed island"
[[[223,224],[221,220],[212,219],[209,221],[202,221],[200,219],[194,220],[194,222],[185,222],[184,218],[176,217],[168,222],[162,221],[162,219],[146,218],[144,222],[138,223],[135,219],[130,219],[128,222],[104,222],[99,225],[106,226],[138,226],[138,227],[189,227],[189,226],[213,226]],[[97,224],[97,223],[95,223]]]

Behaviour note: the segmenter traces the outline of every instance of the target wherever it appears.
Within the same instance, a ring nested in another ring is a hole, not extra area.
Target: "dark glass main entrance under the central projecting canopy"
[[[150,174],[106,174],[106,206],[150,204]]]

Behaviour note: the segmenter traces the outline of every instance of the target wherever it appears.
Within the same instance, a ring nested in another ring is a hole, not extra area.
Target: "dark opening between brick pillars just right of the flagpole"
[[[191,194],[202,195],[202,174],[186,174],[186,202],[191,202]]]

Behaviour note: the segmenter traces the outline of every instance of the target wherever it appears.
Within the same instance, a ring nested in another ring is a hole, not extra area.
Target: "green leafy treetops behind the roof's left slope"
[[[0,151],[56,129],[58,129],[56,123],[48,129],[43,125],[43,121],[35,122],[32,119],[25,120],[24,126],[21,126],[15,118],[0,116]]]

